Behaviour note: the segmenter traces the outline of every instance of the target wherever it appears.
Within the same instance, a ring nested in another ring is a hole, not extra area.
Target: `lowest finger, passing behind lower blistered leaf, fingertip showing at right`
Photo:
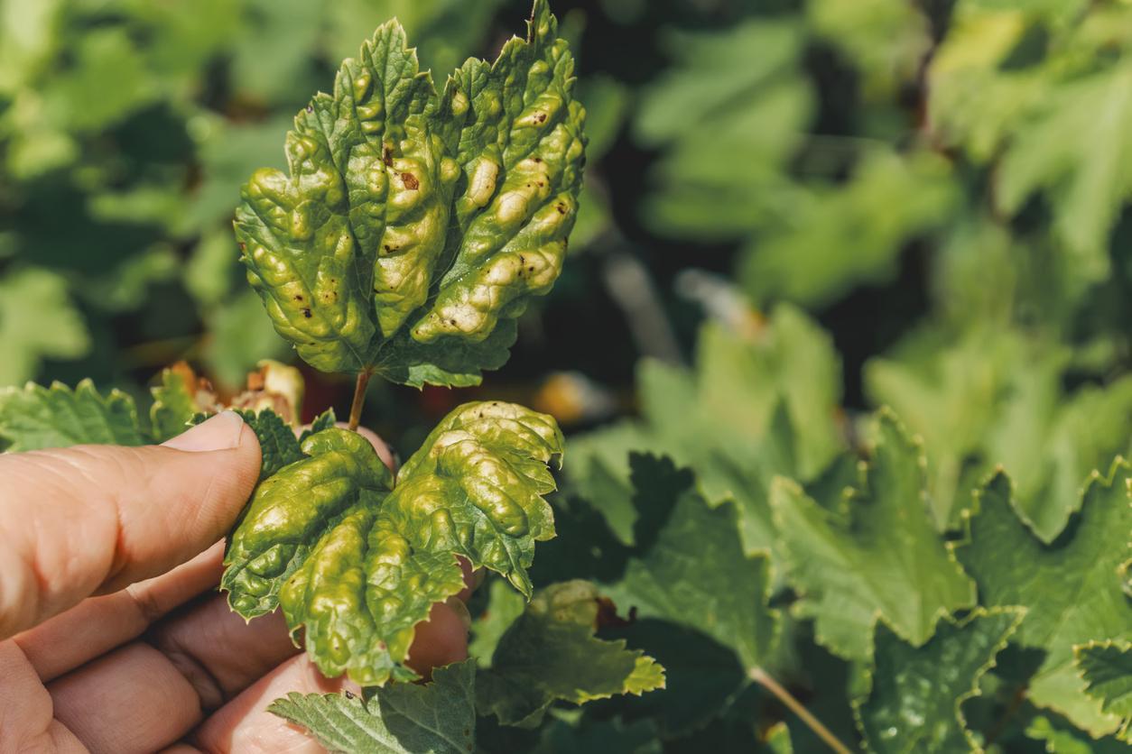
[[[434,605],[429,619],[417,626],[409,657],[409,665],[422,675],[431,675],[434,666],[466,659],[468,629],[458,608]],[[306,655],[295,657],[205,720],[192,742],[205,752],[321,752],[302,728],[272,714],[267,705],[291,692],[326,694],[343,688],[361,693],[345,676],[327,679]]]

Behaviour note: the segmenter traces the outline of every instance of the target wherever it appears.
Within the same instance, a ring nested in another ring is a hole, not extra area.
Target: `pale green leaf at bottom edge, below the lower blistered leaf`
[[[350,694],[291,692],[268,712],[307,728],[332,752],[451,754],[474,749],[475,664],[432,671],[426,685],[394,684],[368,701]]]

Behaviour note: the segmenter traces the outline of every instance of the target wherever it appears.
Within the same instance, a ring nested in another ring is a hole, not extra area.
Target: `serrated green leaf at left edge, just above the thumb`
[[[134,399],[120,390],[102,396],[91,380],[74,390],[60,382],[0,389],[0,449],[6,451],[145,442]]]

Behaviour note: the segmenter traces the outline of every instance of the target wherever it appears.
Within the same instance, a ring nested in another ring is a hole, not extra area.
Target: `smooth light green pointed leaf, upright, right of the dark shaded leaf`
[[[818,643],[847,659],[872,655],[877,619],[920,647],[941,616],[975,605],[974,583],[932,522],[919,443],[883,409],[873,436],[860,482],[840,504],[823,508],[789,479],[771,489],[796,609],[816,621]]]

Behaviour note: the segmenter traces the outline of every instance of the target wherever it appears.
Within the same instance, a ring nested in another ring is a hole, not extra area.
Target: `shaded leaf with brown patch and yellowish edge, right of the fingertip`
[[[477,708],[504,725],[533,727],[556,701],[582,704],[664,687],[664,669],[624,640],[593,635],[598,589],[567,581],[540,590],[477,675]]]

